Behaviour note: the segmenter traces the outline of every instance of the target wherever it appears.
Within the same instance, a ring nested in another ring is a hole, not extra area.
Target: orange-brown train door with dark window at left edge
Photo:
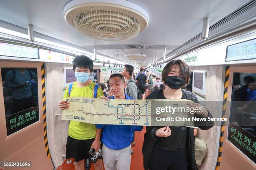
[[[44,134],[41,66],[0,61],[0,166],[4,168],[54,168]]]

